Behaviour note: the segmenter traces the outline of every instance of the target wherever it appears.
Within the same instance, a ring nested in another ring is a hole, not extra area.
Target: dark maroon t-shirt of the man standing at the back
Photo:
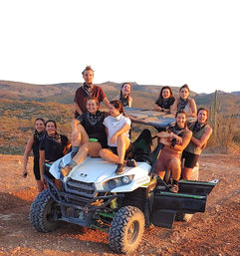
[[[103,102],[107,98],[103,89],[98,86],[93,86],[92,92],[88,95],[83,87],[80,87],[75,94],[74,102],[78,104],[80,110],[85,113],[87,112],[87,100],[89,97],[95,97],[99,100],[99,103]],[[75,113],[75,118],[79,117],[79,114]]]

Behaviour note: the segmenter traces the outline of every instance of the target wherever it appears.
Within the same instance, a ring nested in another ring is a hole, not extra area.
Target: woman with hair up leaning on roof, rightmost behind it
[[[177,111],[185,111],[187,116],[196,117],[196,103],[189,97],[189,88],[187,85],[183,85],[179,90],[179,98],[175,100],[172,105],[171,113],[174,114]]]

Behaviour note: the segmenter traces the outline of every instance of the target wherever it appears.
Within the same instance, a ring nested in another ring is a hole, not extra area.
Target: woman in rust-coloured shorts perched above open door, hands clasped
[[[171,170],[173,183],[170,191],[178,192],[178,180],[181,175],[180,156],[183,149],[187,146],[191,139],[192,132],[186,127],[186,113],[179,111],[175,115],[176,124],[174,128],[157,133],[160,142],[164,144],[160,156],[157,159],[155,172],[163,179],[165,171]]]

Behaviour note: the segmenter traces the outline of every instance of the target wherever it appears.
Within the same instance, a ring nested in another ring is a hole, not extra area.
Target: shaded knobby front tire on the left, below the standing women
[[[54,219],[54,216],[60,214],[60,207],[51,197],[48,189],[42,191],[33,201],[29,219],[33,227],[39,232],[51,232],[57,229],[60,221]]]

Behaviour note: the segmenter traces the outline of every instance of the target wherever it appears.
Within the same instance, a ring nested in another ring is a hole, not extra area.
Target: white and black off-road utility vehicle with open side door
[[[172,117],[151,115],[147,111],[144,114],[142,110],[131,109],[127,115],[157,129],[174,123]],[[156,122],[152,123],[153,120]],[[50,232],[61,221],[99,228],[109,233],[110,247],[115,252],[130,253],[138,246],[144,226],[171,228],[176,216],[205,211],[207,195],[217,180],[181,180],[179,192],[171,193],[169,178],[161,180],[153,172],[161,144],[152,151],[150,131],[144,129],[133,147],[131,157],[137,166],[125,167],[126,171],[120,175],[115,173],[116,164],[102,158],[88,156],[67,177],[61,176],[59,169],[71,161],[70,153],[54,162],[50,172],[62,179],[63,189],[59,191],[45,176],[48,189],[38,194],[30,209],[34,228]]]

